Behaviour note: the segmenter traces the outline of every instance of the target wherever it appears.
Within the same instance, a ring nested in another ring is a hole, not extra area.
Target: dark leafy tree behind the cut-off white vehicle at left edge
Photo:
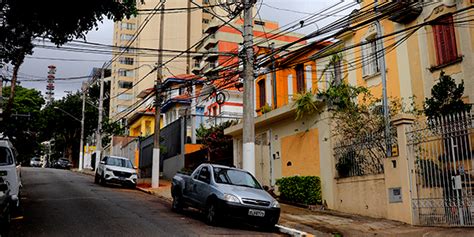
[[[8,95],[10,88],[3,88]],[[40,110],[44,105],[41,92],[18,86],[17,95],[13,100],[11,117],[0,123],[0,131],[4,132],[15,144],[19,152],[19,161],[25,161],[38,154],[40,144],[38,137],[41,127]],[[5,105],[4,105],[5,106]]]

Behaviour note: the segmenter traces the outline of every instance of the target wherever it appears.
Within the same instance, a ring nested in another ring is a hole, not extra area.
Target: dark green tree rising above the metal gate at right
[[[424,113],[428,118],[435,118],[448,114],[457,114],[471,109],[471,105],[464,103],[464,81],[456,85],[451,76],[441,71],[439,81],[431,88],[431,98],[425,99]]]

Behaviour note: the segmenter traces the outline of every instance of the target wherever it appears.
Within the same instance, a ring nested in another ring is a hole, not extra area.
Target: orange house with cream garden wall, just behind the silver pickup
[[[278,60],[275,73],[256,79],[255,176],[264,185],[273,186],[281,177],[321,174],[319,131],[324,124],[314,122],[319,114],[295,120],[293,96],[318,90],[316,62],[308,59],[327,44],[304,46]],[[234,164],[242,167],[242,123],[225,133],[234,137]]]

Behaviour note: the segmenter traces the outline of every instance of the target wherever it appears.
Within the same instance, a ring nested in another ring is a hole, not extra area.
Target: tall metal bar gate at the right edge
[[[406,135],[415,224],[474,226],[472,113],[417,122]]]

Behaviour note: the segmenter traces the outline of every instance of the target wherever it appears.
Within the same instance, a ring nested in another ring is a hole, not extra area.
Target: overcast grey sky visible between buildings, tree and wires
[[[263,0],[260,8],[260,15],[263,19],[277,21],[280,26],[299,21],[307,17],[305,13],[315,13],[333,4],[342,2],[340,0]],[[339,3],[342,6],[353,1],[345,1]],[[260,6],[261,1],[258,1]],[[286,10],[283,10],[286,9]],[[345,11],[342,14],[348,14]],[[310,33],[322,27],[327,22],[334,21],[336,18],[327,17],[318,24],[307,26],[299,31],[299,33]],[[92,31],[87,34],[89,42],[98,42],[104,44],[112,44],[113,22],[105,21],[100,24],[98,31]],[[46,78],[48,65],[56,65],[56,78],[85,76],[91,73],[93,67],[101,67],[102,64],[110,60],[110,55],[100,55],[92,53],[76,53],[65,52],[62,50],[40,49],[35,48],[34,54],[29,56],[20,69],[21,79],[37,79]],[[76,60],[76,61],[73,61]],[[11,68],[10,68],[11,70]],[[82,80],[56,81],[55,98],[61,98],[66,91],[76,91],[80,88]],[[46,87],[46,79],[42,82],[22,82],[22,86],[36,88],[44,94]]]

